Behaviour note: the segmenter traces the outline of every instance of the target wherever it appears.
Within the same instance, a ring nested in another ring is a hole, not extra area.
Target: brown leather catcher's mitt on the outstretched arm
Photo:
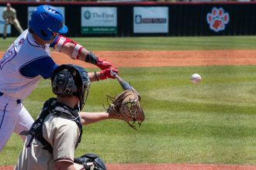
[[[116,97],[109,97],[107,95],[107,99],[112,100],[112,104],[109,104],[107,112],[126,121],[131,128],[137,130],[133,124],[138,122],[141,125],[145,118],[137,91],[134,89],[125,90]],[[130,124],[130,122],[133,122],[133,124]]]

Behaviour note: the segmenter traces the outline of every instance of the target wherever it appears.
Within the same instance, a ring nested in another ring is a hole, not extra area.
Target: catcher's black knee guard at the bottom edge
[[[74,158],[74,163],[82,165],[85,170],[106,170],[106,166],[102,159],[95,154],[85,154],[79,158]]]

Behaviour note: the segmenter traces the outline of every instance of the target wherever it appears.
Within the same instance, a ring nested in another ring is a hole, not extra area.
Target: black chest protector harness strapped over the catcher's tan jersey
[[[67,117],[78,125],[80,135],[78,138],[78,142],[75,146],[75,148],[77,148],[78,144],[81,141],[82,134],[82,124],[78,115],[78,110],[73,110],[64,104],[57,103],[56,98],[50,98],[49,100],[47,100],[45,104],[43,104],[43,109],[41,110],[39,117],[32,124],[32,127],[29,129],[29,131],[22,131],[22,133],[20,133],[22,135],[30,134],[32,136],[32,138],[29,140],[29,143],[26,145],[26,148],[30,148],[33,139],[36,138],[43,145],[43,149],[50,151],[50,153],[53,152],[53,147],[45,138],[43,138],[43,122],[47,115],[50,113],[56,116]]]

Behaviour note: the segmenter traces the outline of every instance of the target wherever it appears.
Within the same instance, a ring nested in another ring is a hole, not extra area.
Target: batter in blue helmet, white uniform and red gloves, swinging
[[[88,73],[91,80],[114,78],[111,70],[118,73],[112,63],[99,59],[83,46],[60,35],[67,30],[61,11],[51,5],[40,5],[32,12],[29,29],[22,32],[0,59],[0,151],[12,132],[20,134],[33,124],[22,100],[29,96],[42,77],[50,78],[57,67],[50,58],[50,47],[72,59],[99,66],[102,71]]]

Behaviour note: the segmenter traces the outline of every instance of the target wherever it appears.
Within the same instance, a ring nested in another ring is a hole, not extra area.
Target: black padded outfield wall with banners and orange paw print
[[[0,2],[0,12],[5,7]],[[35,2],[12,2],[23,29]],[[256,2],[49,2],[64,12],[67,36],[256,35]],[[0,34],[3,28],[0,16]],[[14,27],[10,36],[18,36]]]

